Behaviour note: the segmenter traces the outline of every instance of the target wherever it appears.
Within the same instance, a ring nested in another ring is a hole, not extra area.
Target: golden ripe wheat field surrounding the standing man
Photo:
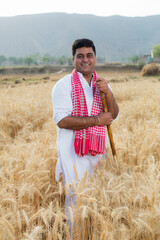
[[[160,77],[99,73],[115,94],[117,164],[109,158],[75,186],[71,234],[54,180],[51,91],[65,75],[0,76],[0,239],[160,239]],[[66,159],[67,161],[67,159]]]

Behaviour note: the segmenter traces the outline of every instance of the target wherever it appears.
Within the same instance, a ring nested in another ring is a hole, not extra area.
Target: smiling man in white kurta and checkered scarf
[[[84,173],[93,173],[106,149],[105,127],[118,115],[118,105],[105,79],[94,67],[96,50],[89,39],[72,45],[75,69],[59,80],[52,91],[54,119],[58,126],[58,161],[56,180],[63,174],[65,184]],[[105,94],[108,112],[103,112],[100,92]]]

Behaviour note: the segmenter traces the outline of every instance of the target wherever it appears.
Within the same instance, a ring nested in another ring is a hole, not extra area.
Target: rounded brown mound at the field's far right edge
[[[150,63],[142,68],[142,76],[157,76],[160,74],[160,64]]]

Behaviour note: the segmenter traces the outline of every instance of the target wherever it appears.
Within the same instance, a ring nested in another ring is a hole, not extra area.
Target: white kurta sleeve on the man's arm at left
[[[59,80],[52,90],[53,118],[56,123],[72,114],[72,99],[68,80]]]

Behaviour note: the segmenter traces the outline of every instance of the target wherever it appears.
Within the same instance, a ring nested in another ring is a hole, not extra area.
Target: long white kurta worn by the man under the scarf
[[[90,116],[93,103],[92,85],[89,86],[81,73],[78,73],[78,75],[84,89],[88,108],[88,115]],[[55,84],[52,90],[52,102],[54,109],[53,117],[56,123],[58,123],[64,117],[71,116],[71,74],[65,76]],[[63,174],[63,179],[66,184],[69,184],[72,181],[76,180],[73,164],[76,167],[79,180],[82,179],[86,171],[88,172],[88,174],[91,174],[94,171],[95,165],[97,165],[100,158],[102,158],[102,155],[87,155],[84,157],[80,157],[75,153],[74,150],[73,130],[57,127],[57,133],[58,161],[56,165],[56,181],[58,181],[59,174],[61,172]]]

